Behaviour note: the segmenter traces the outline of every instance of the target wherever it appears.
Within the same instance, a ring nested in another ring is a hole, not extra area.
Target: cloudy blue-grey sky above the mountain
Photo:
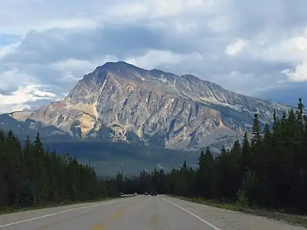
[[[306,0],[0,0],[0,112],[63,98],[106,61],[307,101]],[[305,95],[304,95],[305,93]]]

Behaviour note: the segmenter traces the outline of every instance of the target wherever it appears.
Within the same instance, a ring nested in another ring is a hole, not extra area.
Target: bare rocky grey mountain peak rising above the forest
[[[287,105],[251,98],[193,75],[144,70],[119,61],[84,75],[70,93],[35,111],[0,115],[4,129],[48,141],[126,142],[176,150],[230,146],[255,113],[270,123]]]

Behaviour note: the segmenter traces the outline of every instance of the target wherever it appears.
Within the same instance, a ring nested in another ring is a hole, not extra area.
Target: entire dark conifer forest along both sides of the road
[[[197,169],[183,162],[170,172],[99,181],[89,165],[46,151],[39,135],[22,145],[13,132],[0,132],[0,207],[20,208],[61,201],[85,201],[119,192],[158,192],[243,206],[307,213],[307,116],[297,109],[261,127],[255,114],[251,135],[215,158],[207,149]]]

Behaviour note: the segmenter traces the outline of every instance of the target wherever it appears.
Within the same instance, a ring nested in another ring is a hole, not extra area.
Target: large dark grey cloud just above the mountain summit
[[[94,29],[30,31],[4,62],[47,64],[66,59],[94,60],[112,54],[125,59],[149,49],[165,49],[162,34],[137,25],[109,24]]]

